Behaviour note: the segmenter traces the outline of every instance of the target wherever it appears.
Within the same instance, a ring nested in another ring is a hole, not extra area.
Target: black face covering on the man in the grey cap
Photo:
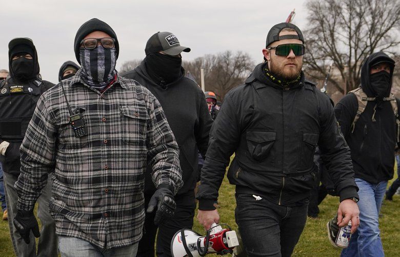
[[[146,56],[146,67],[149,75],[157,83],[169,84],[181,76],[182,58],[162,53]]]

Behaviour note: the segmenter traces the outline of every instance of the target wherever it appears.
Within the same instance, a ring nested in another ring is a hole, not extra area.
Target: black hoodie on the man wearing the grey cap
[[[197,148],[205,155],[212,125],[206,98],[198,85],[181,75],[172,83],[156,84],[146,70],[146,59],[134,70],[122,76],[133,78],[150,90],[163,107],[169,126],[179,146],[179,162],[182,168],[184,186],[178,194],[194,189],[198,176]],[[151,167],[147,167],[145,193],[151,194],[155,188],[151,181]]]

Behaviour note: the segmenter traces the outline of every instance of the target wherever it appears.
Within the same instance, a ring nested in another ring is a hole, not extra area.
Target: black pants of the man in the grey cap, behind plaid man
[[[145,194],[145,208],[149,204],[152,193]],[[176,195],[176,210],[174,217],[167,223],[158,227],[156,252],[157,256],[172,256],[171,254],[171,241],[174,234],[182,228],[192,229],[194,209],[196,204],[194,202],[194,190],[187,193]],[[139,241],[136,257],[153,257],[154,256],[154,242],[157,233],[157,226],[154,225],[154,214],[146,213],[145,218],[145,233]]]

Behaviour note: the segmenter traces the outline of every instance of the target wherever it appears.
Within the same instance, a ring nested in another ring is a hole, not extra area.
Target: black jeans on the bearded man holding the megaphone
[[[307,221],[308,201],[286,207],[236,194],[235,219],[248,256],[289,257]]]

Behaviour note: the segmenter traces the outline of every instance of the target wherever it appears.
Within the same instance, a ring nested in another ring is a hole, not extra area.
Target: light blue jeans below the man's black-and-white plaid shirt
[[[82,239],[58,236],[58,249],[62,257],[135,257],[137,246],[138,243],[110,250],[102,250]]]

